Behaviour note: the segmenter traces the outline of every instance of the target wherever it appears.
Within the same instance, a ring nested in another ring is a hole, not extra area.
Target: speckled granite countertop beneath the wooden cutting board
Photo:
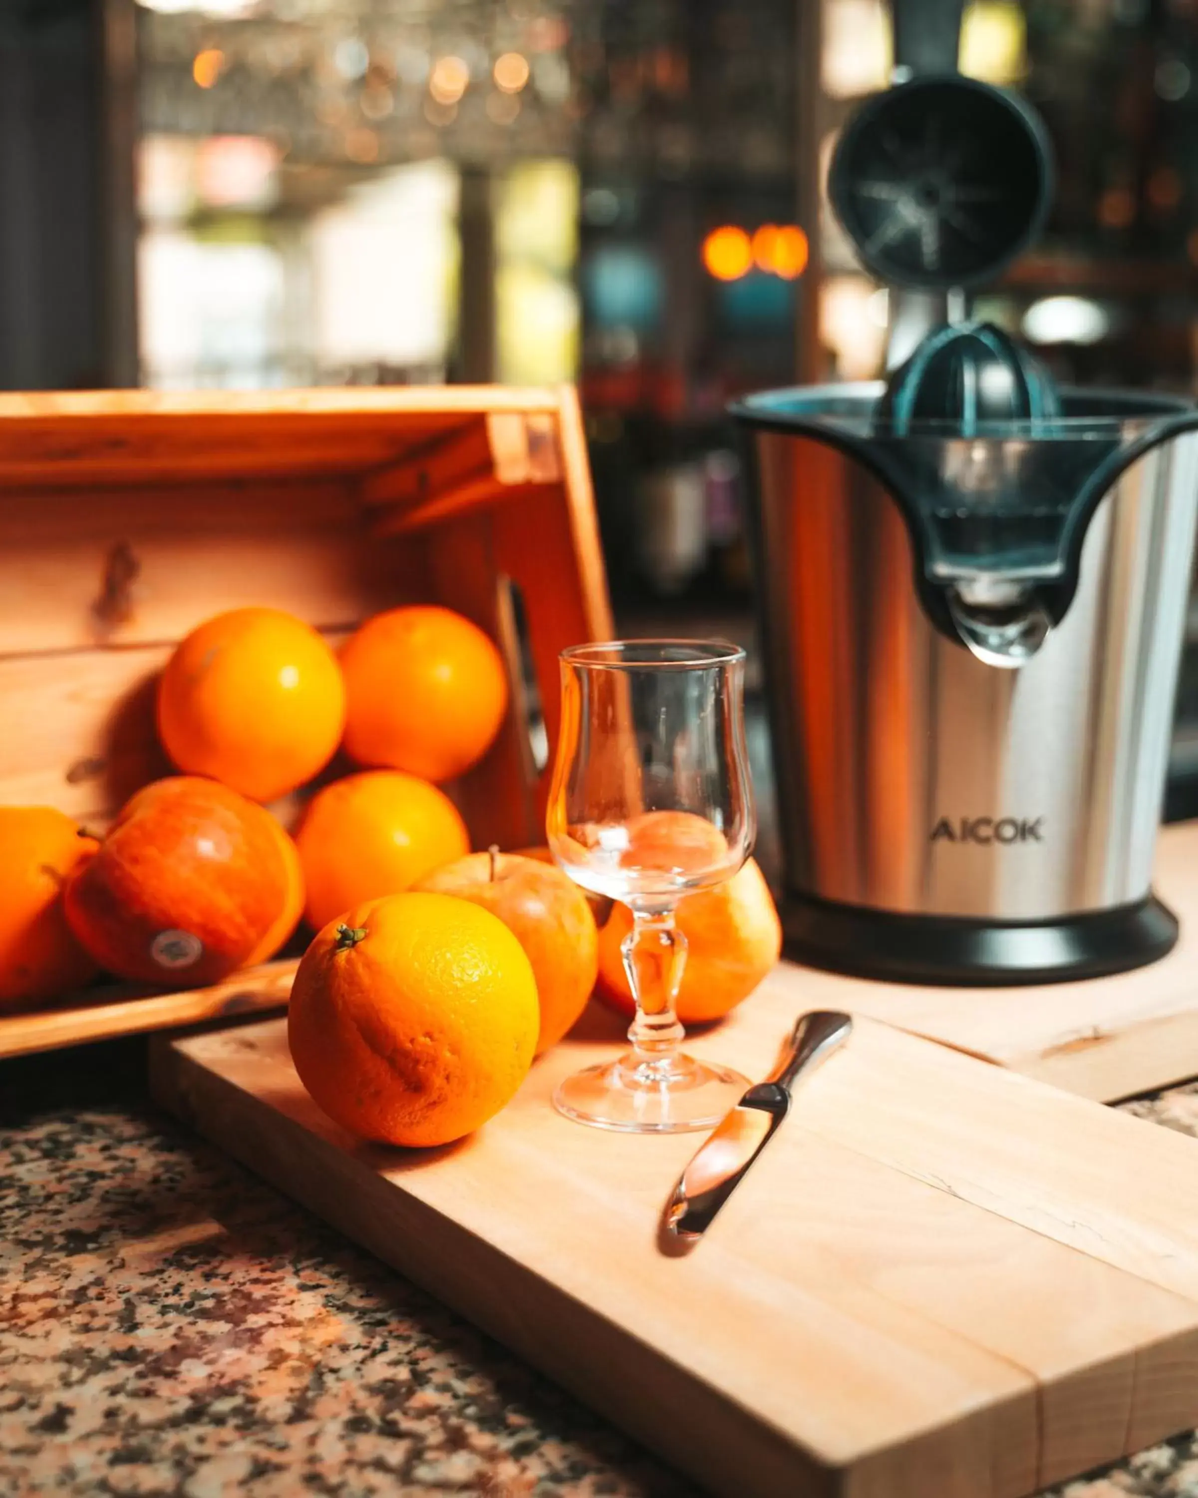
[[[1125,1107],[1198,1134],[1198,1083]],[[157,1113],[144,1043],[0,1064],[0,1210],[3,1495],[695,1492]],[[1198,1498],[1198,1438],[1053,1494]]]

